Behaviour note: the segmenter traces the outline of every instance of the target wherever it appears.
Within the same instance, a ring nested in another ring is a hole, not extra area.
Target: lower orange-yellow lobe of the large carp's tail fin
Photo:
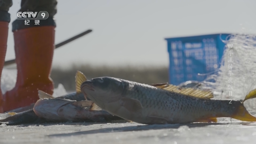
[[[256,122],[256,117],[249,114],[249,112],[246,110],[243,104],[239,106],[236,113],[231,117],[241,121]]]

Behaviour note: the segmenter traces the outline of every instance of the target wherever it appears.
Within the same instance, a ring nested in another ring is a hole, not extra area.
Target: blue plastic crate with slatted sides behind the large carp
[[[220,67],[220,59],[225,49],[222,40],[230,34],[213,34],[165,38],[170,57],[169,83],[203,81],[206,74]]]

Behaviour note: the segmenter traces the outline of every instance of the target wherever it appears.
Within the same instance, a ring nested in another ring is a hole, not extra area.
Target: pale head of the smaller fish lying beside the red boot
[[[58,109],[73,102],[76,101],[58,98],[44,98],[37,100],[33,109],[38,117],[43,117],[52,121],[60,121],[63,120],[63,118],[59,116]]]

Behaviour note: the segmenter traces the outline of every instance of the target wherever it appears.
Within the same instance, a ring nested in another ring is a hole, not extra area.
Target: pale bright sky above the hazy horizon
[[[255,5],[255,0],[59,0],[55,44],[93,31],[55,50],[53,65],[168,66],[164,38],[256,34]],[[20,0],[13,0],[5,60],[15,58],[12,21],[19,9]]]

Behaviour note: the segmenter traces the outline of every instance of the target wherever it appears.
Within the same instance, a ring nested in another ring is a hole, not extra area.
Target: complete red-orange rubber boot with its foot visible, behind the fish
[[[3,95],[4,112],[35,103],[38,90],[52,94],[54,89],[50,73],[55,26],[24,28],[13,34],[18,74],[15,87]]]

